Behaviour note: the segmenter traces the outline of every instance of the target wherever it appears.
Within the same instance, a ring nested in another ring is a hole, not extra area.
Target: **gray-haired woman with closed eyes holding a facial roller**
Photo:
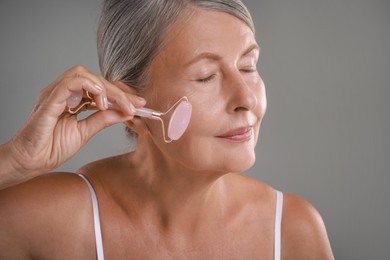
[[[309,203],[240,174],[254,164],[266,97],[239,0],[107,0],[98,51],[103,77],[65,72],[2,146],[4,186],[60,165],[114,123],[136,149],[3,189],[2,258],[333,259]],[[67,106],[80,91],[99,111],[77,121]],[[193,112],[177,141],[134,116],[145,100],[166,111],[183,96]]]

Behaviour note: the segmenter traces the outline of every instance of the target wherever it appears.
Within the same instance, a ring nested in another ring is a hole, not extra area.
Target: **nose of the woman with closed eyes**
[[[260,98],[259,82],[260,76],[243,75],[242,72],[237,71],[232,73],[227,79],[227,91],[229,92],[229,111],[252,111],[258,104]]]

